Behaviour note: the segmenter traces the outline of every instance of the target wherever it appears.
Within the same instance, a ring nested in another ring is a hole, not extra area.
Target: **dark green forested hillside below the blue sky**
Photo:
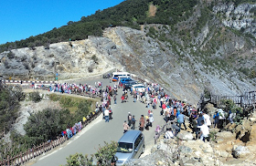
[[[149,5],[155,5],[155,16],[148,13]],[[49,44],[61,41],[86,39],[88,36],[101,36],[102,30],[108,26],[130,26],[140,28],[143,24],[175,25],[184,17],[188,17],[197,0],[127,0],[120,5],[98,10],[94,15],[81,16],[80,21],[69,21],[67,26],[25,40],[6,43],[0,46],[0,52],[21,47],[48,47]]]

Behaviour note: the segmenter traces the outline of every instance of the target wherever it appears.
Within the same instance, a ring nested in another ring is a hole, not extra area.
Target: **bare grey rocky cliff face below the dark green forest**
[[[54,79],[58,72],[60,79],[68,79],[117,68],[157,82],[172,97],[194,104],[205,89],[237,95],[255,90],[255,77],[246,75],[256,71],[255,6],[216,4],[202,21],[206,6],[197,5],[176,26],[118,26],[105,29],[101,37],[5,51],[0,54],[0,75]]]

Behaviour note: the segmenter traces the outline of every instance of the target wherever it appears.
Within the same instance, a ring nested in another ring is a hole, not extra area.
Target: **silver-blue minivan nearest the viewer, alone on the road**
[[[138,159],[144,153],[144,134],[140,130],[128,130],[118,140],[115,153],[116,165],[123,165],[130,159]]]

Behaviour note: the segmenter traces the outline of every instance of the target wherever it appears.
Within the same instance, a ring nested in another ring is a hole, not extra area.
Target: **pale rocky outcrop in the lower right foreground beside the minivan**
[[[243,124],[226,126],[225,131],[210,128],[210,140],[193,140],[195,133],[181,130],[177,138],[166,140],[164,134],[144,158],[127,165],[255,165],[255,114],[243,119]],[[249,137],[240,138],[240,133]]]

